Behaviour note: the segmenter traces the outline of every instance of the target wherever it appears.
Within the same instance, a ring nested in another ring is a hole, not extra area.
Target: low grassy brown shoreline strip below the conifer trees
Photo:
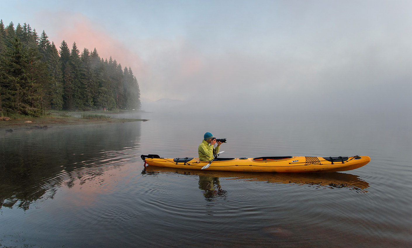
[[[31,121],[26,123],[26,121]],[[105,124],[105,123],[124,123],[131,121],[148,121],[146,119],[117,119],[109,118],[106,120],[84,119],[79,117],[39,117],[39,118],[22,118],[9,121],[0,121],[0,130],[12,132],[17,129],[47,129],[52,127],[64,127],[72,125],[91,125],[91,124]]]

